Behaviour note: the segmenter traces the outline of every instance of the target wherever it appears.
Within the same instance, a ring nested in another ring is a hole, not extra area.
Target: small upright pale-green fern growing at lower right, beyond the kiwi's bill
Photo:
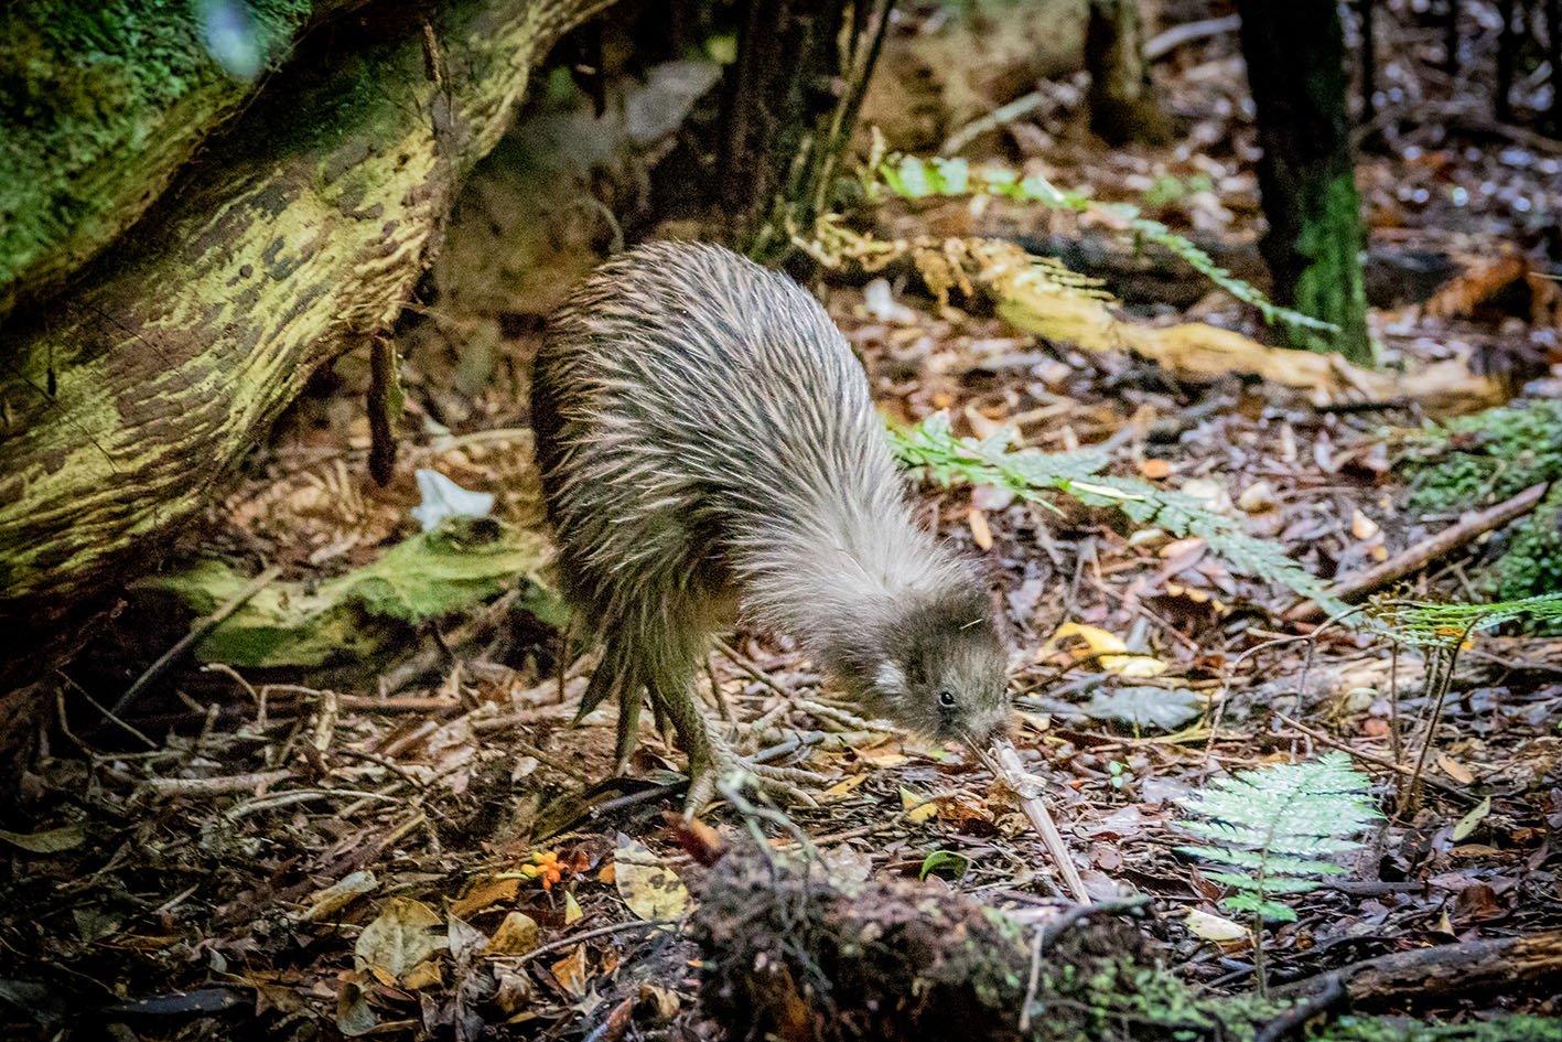
[[[1178,850],[1226,865],[1206,875],[1236,890],[1221,906],[1251,914],[1261,990],[1264,922],[1295,922],[1296,911],[1281,895],[1306,894],[1323,876],[1345,872],[1328,858],[1359,847],[1350,837],[1381,817],[1367,800],[1368,784],[1345,753],[1329,753],[1218,778],[1181,800],[1195,817],[1178,826],[1207,842]]]

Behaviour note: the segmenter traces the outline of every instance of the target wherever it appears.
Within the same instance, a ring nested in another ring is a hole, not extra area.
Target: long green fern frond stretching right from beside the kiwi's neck
[[[890,445],[904,466],[940,484],[961,480],[992,484],[1043,506],[1051,506],[1043,492],[1062,492],[1086,506],[1122,511],[1140,525],[1156,525],[1176,537],[1198,536],[1234,570],[1286,586],[1331,614],[1348,611],[1307,569],[1286,556],[1276,544],[1242,531],[1236,519],[1217,514],[1181,492],[1100,473],[1109,462],[1106,453],[1011,451],[1006,434],[986,441],[956,437],[942,412],[911,430],[892,430]]]

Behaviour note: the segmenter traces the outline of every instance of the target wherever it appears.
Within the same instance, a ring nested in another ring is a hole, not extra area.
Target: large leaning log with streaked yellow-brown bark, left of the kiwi
[[[309,37],[78,289],[14,317],[0,339],[12,637],[58,641],[147,570],[309,373],[390,325],[530,69],[604,6],[397,5]]]

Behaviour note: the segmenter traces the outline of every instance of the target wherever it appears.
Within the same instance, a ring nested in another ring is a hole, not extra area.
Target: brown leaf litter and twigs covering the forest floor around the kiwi
[[[1175,145],[1092,142],[1076,89],[1062,84],[1040,116],[982,147],[1198,236],[1253,242],[1251,128],[1232,47],[1203,41],[1159,70],[1168,108],[1187,120]],[[1385,89],[1425,83],[1421,64],[1406,44],[1382,70]],[[1459,272],[1429,300],[1376,308],[1375,336],[1395,366],[1462,359],[1531,397],[1559,397],[1562,309],[1540,275],[1562,248],[1562,144],[1454,122],[1379,120],[1384,139],[1364,153],[1373,245],[1437,252]],[[1079,233],[1048,211],[1000,209],[947,202],[890,222]],[[958,433],[1011,428],[1042,451],[1101,447],[1109,473],[1179,489],[1323,578],[1457,520],[1407,506],[1401,433],[1429,419],[1420,403],[1320,408],[1278,383],[1190,380],[1126,353],[1042,342],[990,308],[939,308],[914,286],[822,291],[890,416],[947,411]],[[1221,294],[1136,309],[1262,334]],[[462,358],[412,353],[405,428],[439,416],[453,431],[411,433],[387,487],[367,476],[361,401],[323,384],[214,511],[205,548],[276,566],[289,581],[342,575],[415,531],[417,467],[494,492],[497,516],[534,526],[517,406],[534,345],[533,323],[506,322],[500,361],[459,403],[448,387]],[[1562,637],[1473,637],[1428,736],[1417,730],[1428,717],[1421,655],[1346,625],[1287,622],[1293,594],[1240,575],[1201,539],[1136,530],[1062,495],[1051,508],[981,486],[925,483],[918,495],[928,523],[984,559],[1003,594],[1015,740],[1050,781],[1086,884],[1097,897],[1147,895],[1154,914],[1142,930],[1184,980],[1246,990],[1253,959],[1240,930],[1211,939],[1236,915],[1176,850],[1189,840],[1179,798],[1229,772],[1328,751],[1353,758],[1390,817],[1343,858],[1348,873],[1292,898],[1296,922],[1267,933],[1271,981],[1562,931]],[[1401,594],[1471,597],[1490,548],[1459,547]],[[604,784],[611,712],[573,723],[590,661],[570,664],[561,700],[548,626],[514,625],[505,601],[425,626],[405,655],[372,667],[186,664],[108,717],[187,626],[139,611],[64,670],[45,753],[3,815],[8,1037],[45,1037],[84,1009],[128,1025],[114,1037],[148,1039],[465,1039],[498,1025],[512,1025],[501,1037],[719,1037],[700,1003],[700,953],[676,928],[704,873],[669,820],[681,755],[647,730],[634,776]],[[1153,669],[1134,676],[1103,650]],[[758,828],[793,850],[806,837],[840,878],[926,873],[928,887],[995,908],[1067,906],[1015,794],[981,761],[822,712],[806,698],[820,683],[781,639],[737,634],[731,655],[712,656],[701,681],[712,711],[719,701],[759,722],[762,745],[828,776],[818,806],[787,808],[784,820],[715,808],[719,833]],[[1393,814],[1423,737],[1423,798]],[[1453,1020],[1557,1015],[1556,1003],[1517,981],[1384,1000]]]

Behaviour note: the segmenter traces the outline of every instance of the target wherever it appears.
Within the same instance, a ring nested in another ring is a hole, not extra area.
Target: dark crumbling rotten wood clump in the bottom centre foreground
[[[1047,933],[948,887],[843,886],[818,864],[809,872],[734,850],[703,886],[690,933],[706,956],[701,1003],[723,1037],[1148,1042],[1187,1028],[1214,1037],[1198,1030],[1201,1014],[1134,994],[1145,940],[1120,920],[1078,917]],[[1045,1015],[1026,1023],[1026,1009]]]

